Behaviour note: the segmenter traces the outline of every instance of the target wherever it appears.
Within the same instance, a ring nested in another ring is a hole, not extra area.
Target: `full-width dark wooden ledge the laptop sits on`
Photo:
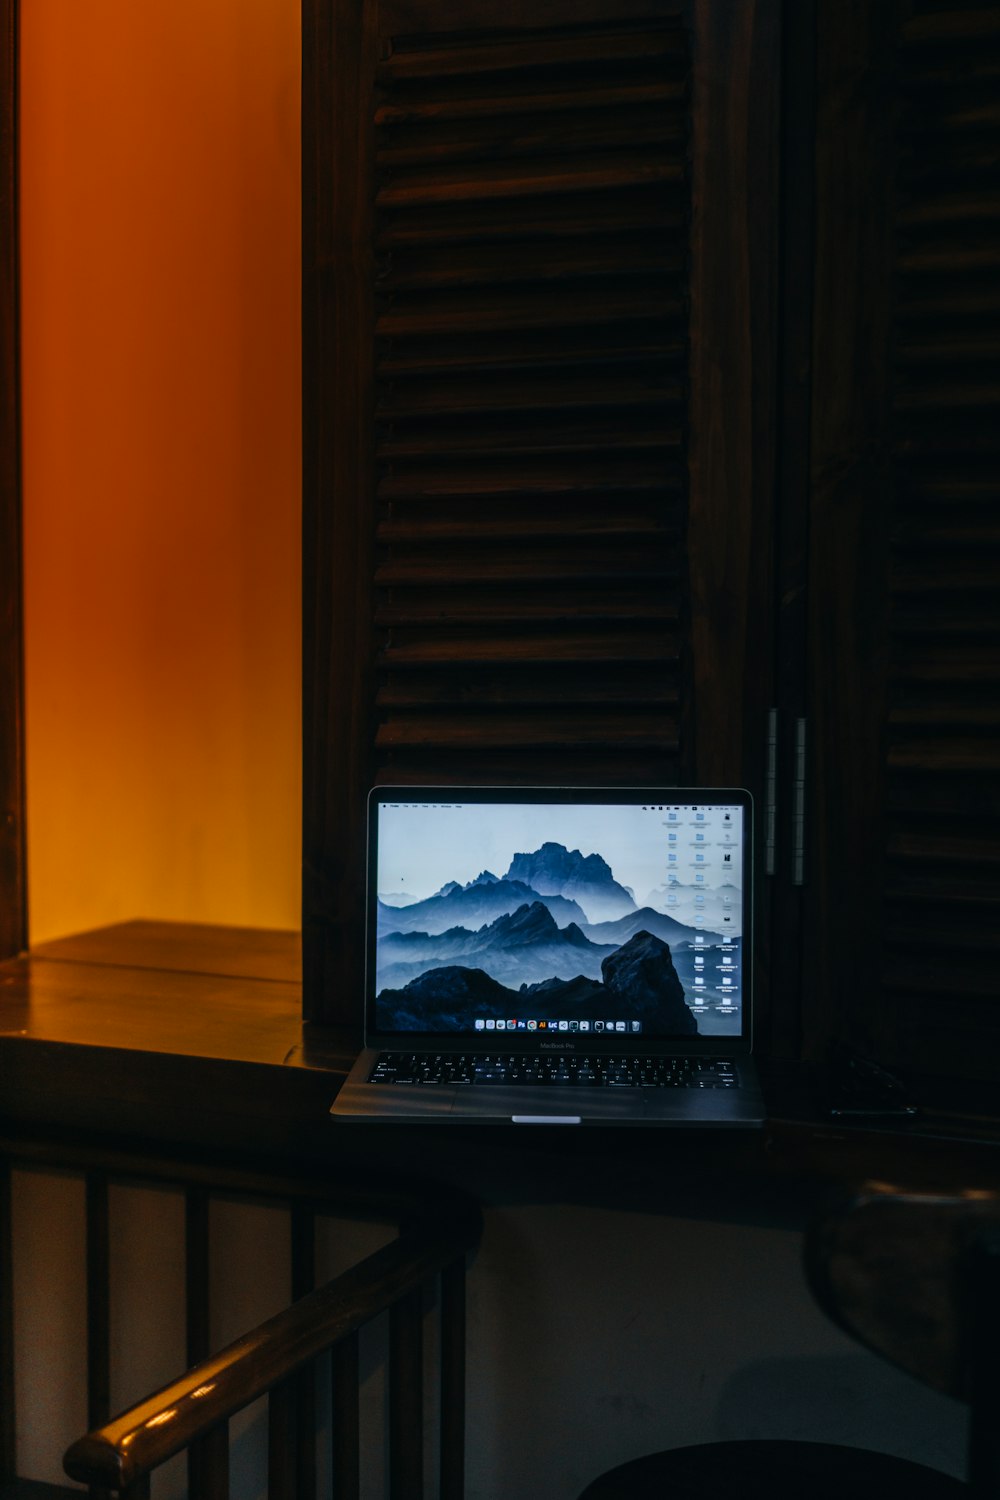
[[[0,964],[0,1126],[84,1131],[198,1149],[250,1149],[273,1164],[354,1155],[373,1170],[439,1176],[475,1191],[654,1206],[681,1179],[1000,1185],[987,1134],[921,1124],[900,1132],[810,1119],[772,1080],[765,1131],[345,1125],[330,1104],[357,1053],[346,1030],[301,1020],[297,933],[132,921],[39,945]],[[768,1080],[765,1080],[768,1082]],[[783,1102],[784,1101],[784,1102]],[[531,1164],[531,1166],[529,1166]]]

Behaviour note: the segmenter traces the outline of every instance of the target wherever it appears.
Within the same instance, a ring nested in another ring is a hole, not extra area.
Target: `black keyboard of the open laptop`
[[[414,1052],[381,1053],[369,1083],[529,1083],[610,1089],[735,1089],[736,1071],[724,1058],[573,1058],[508,1056],[468,1058]]]

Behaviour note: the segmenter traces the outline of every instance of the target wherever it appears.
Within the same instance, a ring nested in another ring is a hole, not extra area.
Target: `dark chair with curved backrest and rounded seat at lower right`
[[[705,1443],[621,1464],[579,1500],[1000,1497],[1000,1197],[868,1185],[810,1230],[805,1262],[820,1306],[840,1328],[967,1402],[967,1482],[831,1443]]]

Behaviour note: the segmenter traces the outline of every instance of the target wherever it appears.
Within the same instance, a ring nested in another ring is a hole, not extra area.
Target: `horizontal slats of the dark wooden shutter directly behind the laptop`
[[[676,782],[685,33],[385,51],[375,778]]]

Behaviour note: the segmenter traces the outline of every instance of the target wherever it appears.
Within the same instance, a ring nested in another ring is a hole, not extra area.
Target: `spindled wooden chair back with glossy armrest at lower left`
[[[4,1143],[0,1143],[3,1149]],[[229,1419],[252,1401],[268,1406],[268,1500],[316,1496],[316,1432],[330,1430],[333,1494],[360,1492],[358,1332],[388,1312],[388,1484],[391,1500],[424,1496],[424,1288],[439,1276],[439,1496],[460,1500],[465,1470],[465,1262],[480,1214],[436,1186],[379,1186],[330,1178],[267,1176],[234,1166],[159,1161],[117,1150],[10,1144],[15,1162],[76,1167],[87,1185],[87,1372],[91,1431],[64,1455],[66,1473],[94,1497],[150,1496],[150,1476],[187,1452],[190,1500],[229,1496]],[[333,1178],[333,1173],[330,1174]],[[181,1186],[186,1210],[187,1353],[190,1368],[108,1420],[108,1182]],[[213,1194],[285,1202],[292,1245],[292,1302],[226,1348],[210,1353],[208,1202]],[[391,1222],[397,1238],[313,1288],[315,1215]],[[328,1424],[318,1413],[318,1362],[330,1358]],[[103,1407],[103,1410],[102,1410]]]

